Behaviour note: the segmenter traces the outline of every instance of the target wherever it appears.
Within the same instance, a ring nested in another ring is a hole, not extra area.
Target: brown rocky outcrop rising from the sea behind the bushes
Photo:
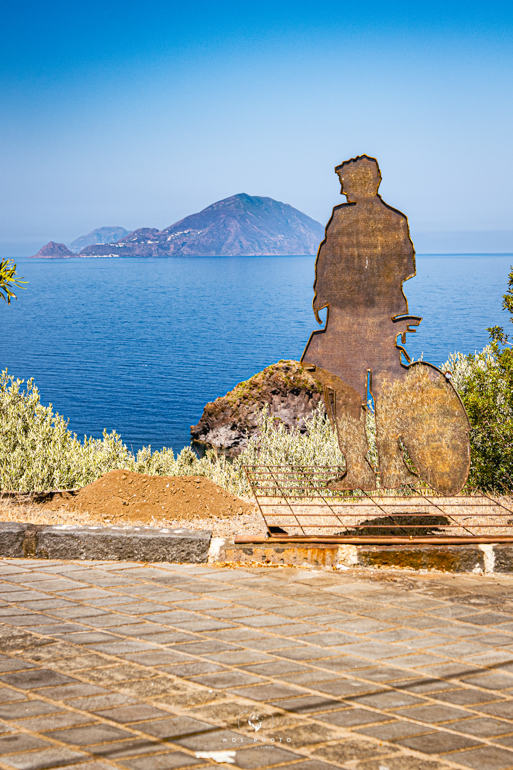
[[[304,433],[305,417],[316,409],[322,386],[297,361],[278,361],[225,396],[207,403],[202,419],[191,426],[195,443],[210,444],[235,455],[258,430],[255,411],[268,404],[276,420]]]

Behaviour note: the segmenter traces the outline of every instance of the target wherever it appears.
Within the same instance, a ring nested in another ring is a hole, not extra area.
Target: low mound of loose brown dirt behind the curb
[[[55,492],[38,507],[57,511],[88,512],[111,521],[152,524],[252,514],[254,506],[202,476],[146,476],[128,470],[110,470],[73,492]]]

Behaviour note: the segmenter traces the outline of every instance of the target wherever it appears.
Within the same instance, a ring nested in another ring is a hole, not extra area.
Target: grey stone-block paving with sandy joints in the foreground
[[[513,768],[511,588],[0,560],[0,768]]]

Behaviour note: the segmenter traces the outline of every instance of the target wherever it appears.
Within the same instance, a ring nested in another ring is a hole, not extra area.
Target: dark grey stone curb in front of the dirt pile
[[[204,564],[212,531],[0,521],[0,557]]]

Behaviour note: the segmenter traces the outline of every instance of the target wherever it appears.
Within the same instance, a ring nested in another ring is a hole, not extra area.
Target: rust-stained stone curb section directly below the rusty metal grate
[[[217,538],[216,538],[217,539]],[[336,545],[235,544],[218,546],[218,561],[305,564],[327,569],[385,567],[493,574],[513,572],[513,545]]]

